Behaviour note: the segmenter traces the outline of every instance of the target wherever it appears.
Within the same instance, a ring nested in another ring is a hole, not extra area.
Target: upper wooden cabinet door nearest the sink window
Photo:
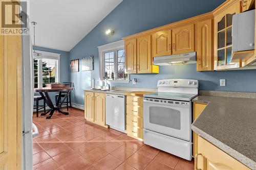
[[[136,39],[126,40],[124,42],[125,53],[125,73],[137,73],[137,44]]]

